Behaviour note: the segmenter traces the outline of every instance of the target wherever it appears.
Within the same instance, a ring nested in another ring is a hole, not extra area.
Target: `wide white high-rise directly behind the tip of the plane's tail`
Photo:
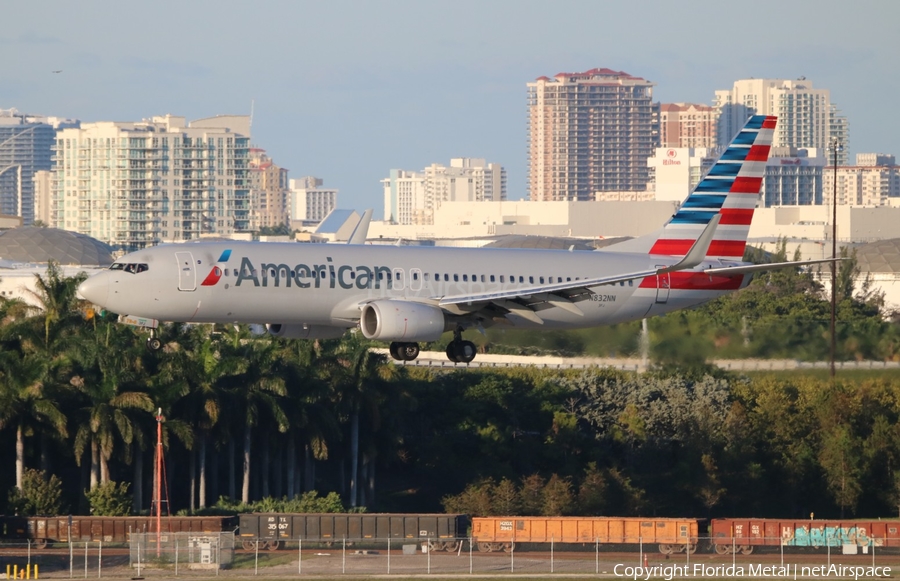
[[[735,81],[731,89],[716,91],[714,106],[719,111],[719,145],[726,145],[751,115],[776,115],[773,147],[825,150],[838,139],[844,145],[838,165],[847,163],[847,118],[831,102],[828,89],[814,88],[805,77]]]

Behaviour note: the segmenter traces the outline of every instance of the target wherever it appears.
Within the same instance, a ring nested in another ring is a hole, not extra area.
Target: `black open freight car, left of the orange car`
[[[275,550],[284,541],[336,542],[367,539],[427,541],[432,550],[455,551],[466,536],[468,517],[462,514],[252,513],[240,515],[245,549]]]

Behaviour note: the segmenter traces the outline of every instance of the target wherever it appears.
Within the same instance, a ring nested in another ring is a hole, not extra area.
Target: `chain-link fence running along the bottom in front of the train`
[[[0,578],[162,579],[186,576],[601,575],[611,578],[883,577],[900,572],[900,547],[879,539],[701,537],[690,545],[638,540],[543,543],[457,539],[282,539],[233,533],[132,534],[130,542],[0,544]]]

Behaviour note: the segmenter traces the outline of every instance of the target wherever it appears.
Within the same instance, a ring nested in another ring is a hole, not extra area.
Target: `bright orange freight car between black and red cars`
[[[697,550],[697,519],[503,516],[472,519],[479,551],[510,551],[515,543],[656,544],[659,552]]]

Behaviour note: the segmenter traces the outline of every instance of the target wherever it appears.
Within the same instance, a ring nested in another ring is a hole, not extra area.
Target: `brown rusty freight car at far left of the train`
[[[132,532],[156,532],[156,517],[148,516],[33,516],[3,517],[0,530],[7,538],[30,539],[37,548],[47,543],[72,541],[128,542]],[[161,519],[161,531],[171,533],[222,532],[234,526],[234,517],[181,517]],[[70,536],[71,535],[71,536]]]

